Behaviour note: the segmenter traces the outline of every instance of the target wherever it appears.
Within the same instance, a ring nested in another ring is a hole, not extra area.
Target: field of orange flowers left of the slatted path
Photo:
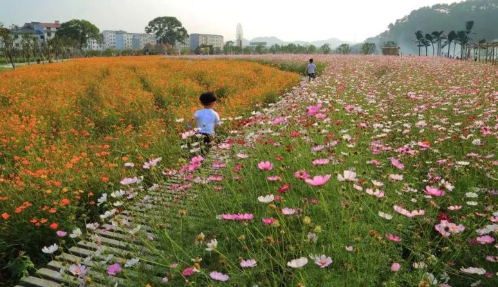
[[[19,252],[40,259],[57,230],[98,218],[98,198],[118,188],[125,163],[162,157],[178,166],[184,123],[175,119],[199,109],[201,92],[216,91],[216,110],[231,119],[298,81],[248,61],[159,57],[76,59],[1,72],[0,281],[6,273],[21,275],[27,260]]]

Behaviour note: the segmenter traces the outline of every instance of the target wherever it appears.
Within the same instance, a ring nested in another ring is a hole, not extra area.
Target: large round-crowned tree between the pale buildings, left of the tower
[[[176,42],[185,43],[188,37],[187,30],[176,17],[157,17],[145,27],[147,34],[154,34],[160,43],[174,46]]]

